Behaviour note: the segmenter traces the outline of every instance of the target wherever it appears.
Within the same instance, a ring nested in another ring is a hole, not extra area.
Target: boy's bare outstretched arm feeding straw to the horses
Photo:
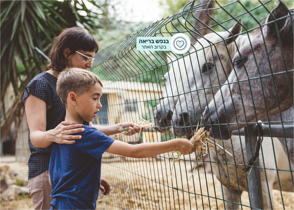
[[[172,139],[159,143],[128,144],[115,140],[106,152],[130,158],[149,158],[165,152],[180,150],[183,155],[195,152],[195,146],[188,139]]]

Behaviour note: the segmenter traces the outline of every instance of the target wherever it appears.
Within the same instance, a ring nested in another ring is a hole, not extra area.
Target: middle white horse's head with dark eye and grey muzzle
[[[242,23],[241,19],[239,22]],[[237,37],[241,30],[242,26],[236,23],[228,31],[209,33],[197,40],[190,54],[192,66],[187,69],[186,94],[180,96],[173,114],[176,136],[185,136],[196,128],[205,106],[220,89],[219,84],[227,80],[232,69],[230,57],[233,58],[237,50],[232,37],[239,43]]]

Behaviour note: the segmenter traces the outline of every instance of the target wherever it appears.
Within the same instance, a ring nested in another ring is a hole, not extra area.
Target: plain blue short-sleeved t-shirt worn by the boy
[[[101,178],[101,157],[114,142],[101,131],[84,126],[74,144],[53,143],[49,173],[57,209],[96,209]],[[51,208],[52,209],[52,208]]]

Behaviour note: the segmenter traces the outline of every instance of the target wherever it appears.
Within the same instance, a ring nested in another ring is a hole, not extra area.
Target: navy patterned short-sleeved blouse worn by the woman
[[[24,107],[24,101],[29,94],[32,94],[46,103],[46,131],[54,129],[65,119],[65,107],[57,95],[56,82],[57,78],[47,72],[38,74],[25,88],[21,101]],[[89,122],[83,121],[83,124],[89,125]],[[34,147],[30,140],[29,130],[29,147],[31,151],[28,162],[30,179],[49,169],[52,145],[47,148]]]

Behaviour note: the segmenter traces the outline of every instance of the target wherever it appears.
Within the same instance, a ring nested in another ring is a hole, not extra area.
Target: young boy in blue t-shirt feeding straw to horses
[[[91,122],[102,107],[102,82],[97,75],[83,69],[62,71],[58,75],[57,94],[66,108],[65,121]],[[84,126],[84,129],[77,133],[82,138],[74,144],[53,143],[49,164],[53,209],[96,209],[99,189],[104,194],[109,192],[109,184],[101,180],[104,152],[131,158],[148,158],[174,150],[184,155],[195,152],[187,139],[131,145],[114,140],[96,128]]]

